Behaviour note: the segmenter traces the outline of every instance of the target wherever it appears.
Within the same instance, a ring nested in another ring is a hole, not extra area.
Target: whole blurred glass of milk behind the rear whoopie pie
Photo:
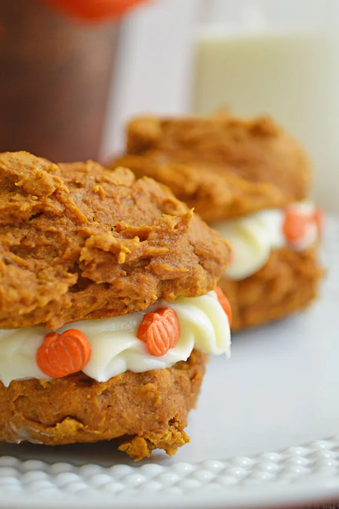
[[[314,197],[339,212],[339,0],[205,0],[195,114],[271,114],[308,150]]]

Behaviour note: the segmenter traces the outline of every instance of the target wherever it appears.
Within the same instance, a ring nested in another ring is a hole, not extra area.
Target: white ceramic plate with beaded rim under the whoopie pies
[[[208,365],[191,443],[134,464],[114,443],[0,445],[0,507],[268,507],[339,500],[339,220],[321,299],[233,337]]]

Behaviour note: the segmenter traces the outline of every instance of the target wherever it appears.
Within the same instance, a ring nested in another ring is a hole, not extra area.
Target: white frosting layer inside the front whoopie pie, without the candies
[[[136,333],[145,313],[159,307],[171,307],[180,322],[177,345],[161,357],[150,355]],[[140,373],[170,367],[187,360],[193,350],[215,355],[229,354],[230,330],[227,316],[215,292],[202,297],[178,298],[169,303],[158,301],[145,312],[69,323],[57,332],[78,329],[91,344],[91,357],[83,372],[98,382],[127,370]],[[0,380],[8,386],[12,380],[38,378],[48,380],[36,363],[36,352],[50,332],[41,327],[0,330]]]

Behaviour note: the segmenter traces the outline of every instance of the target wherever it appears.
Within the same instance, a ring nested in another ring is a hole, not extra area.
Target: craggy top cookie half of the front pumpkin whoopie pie
[[[126,168],[0,154],[0,328],[105,318],[213,290],[229,246]]]

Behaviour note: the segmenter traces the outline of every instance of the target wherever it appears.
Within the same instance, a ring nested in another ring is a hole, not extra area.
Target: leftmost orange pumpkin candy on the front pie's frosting
[[[37,351],[39,369],[48,377],[63,378],[81,371],[91,355],[91,345],[85,334],[69,329],[47,334]]]

